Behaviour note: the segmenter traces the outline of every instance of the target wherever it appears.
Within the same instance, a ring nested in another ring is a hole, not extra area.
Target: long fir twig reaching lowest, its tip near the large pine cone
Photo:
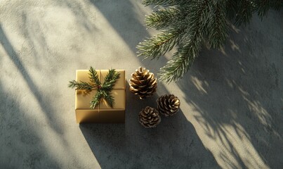
[[[199,50],[204,41],[204,32],[209,17],[209,1],[195,1],[192,4],[192,15],[187,22],[190,27],[187,28],[182,44],[179,44],[178,51],[161,68],[159,80],[164,82],[177,81],[187,73],[193,61],[199,54]],[[197,22],[196,22],[197,21]]]

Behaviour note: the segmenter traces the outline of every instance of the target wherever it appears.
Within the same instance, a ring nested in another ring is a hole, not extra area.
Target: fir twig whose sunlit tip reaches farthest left
[[[176,19],[176,22],[178,22],[178,24],[174,26],[179,27],[178,29],[169,28],[169,30],[166,30],[159,35],[156,35],[139,43],[137,46],[138,56],[143,55],[145,56],[145,58],[158,59],[159,56],[166,54],[167,51],[171,51],[171,49],[173,49],[173,46],[178,45],[180,41],[182,41],[181,39],[187,39],[186,37],[183,37],[183,35],[201,32],[201,30],[198,30],[199,24],[202,24],[201,27],[204,27],[204,25],[206,24],[206,15],[209,11],[208,4],[208,1],[205,0],[201,1],[200,3],[199,1],[195,1],[187,5],[191,6],[190,8],[193,11],[192,13],[195,13],[195,15],[193,17],[187,17],[187,13],[185,13],[184,15],[180,16],[178,20]],[[182,11],[184,9],[185,8],[182,8]],[[191,27],[189,27],[190,30],[187,29],[187,22],[184,22],[184,19],[190,20],[191,24],[189,23],[189,25],[192,25]],[[194,23],[195,20],[199,20],[199,22],[197,22],[197,25]],[[183,27],[183,25],[185,25],[185,27]],[[187,33],[185,31],[190,33]]]

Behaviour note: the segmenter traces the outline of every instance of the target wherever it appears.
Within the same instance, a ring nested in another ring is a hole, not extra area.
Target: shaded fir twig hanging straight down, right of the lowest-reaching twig
[[[214,2],[209,18],[211,19],[207,25],[208,42],[214,49],[220,48],[228,37],[225,4],[221,1]]]

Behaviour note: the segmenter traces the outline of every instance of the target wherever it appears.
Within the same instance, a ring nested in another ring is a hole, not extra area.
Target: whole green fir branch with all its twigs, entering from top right
[[[189,70],[204,40],[216,49],[223,46],[228,37],[226,18],[235,19],[236,25],[246,25],[253,13],[258,13],[263,18],[270,8],[278,11],[283,6],[283,1],[143,0],[143,4],[164,8],[152,12],[146,18],[147,27],[162,30],[162,33],[139,43],[138,56],[159,58],[177,46],[177,52],[159,73],[162,80],[171,82],[178,80]]]

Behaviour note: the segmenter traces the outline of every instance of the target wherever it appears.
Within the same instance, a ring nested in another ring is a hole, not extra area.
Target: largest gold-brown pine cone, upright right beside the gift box
[[[130,91],[140,96],[140,99],[150,97],[156,92],[157,78],[154,78],[150,70],[140,67],[131,76]]]

